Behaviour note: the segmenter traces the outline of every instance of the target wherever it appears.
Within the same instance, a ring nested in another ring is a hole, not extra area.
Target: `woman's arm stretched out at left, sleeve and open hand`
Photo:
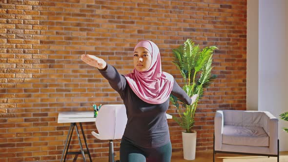
[[[124,90],[126,79],[118,73],[115,67],[107,64],[103,59],[93,55],[82,55],[81,59],[90,66],[97,67],[103,77],[109,81],[111,87],[118,93]]]

